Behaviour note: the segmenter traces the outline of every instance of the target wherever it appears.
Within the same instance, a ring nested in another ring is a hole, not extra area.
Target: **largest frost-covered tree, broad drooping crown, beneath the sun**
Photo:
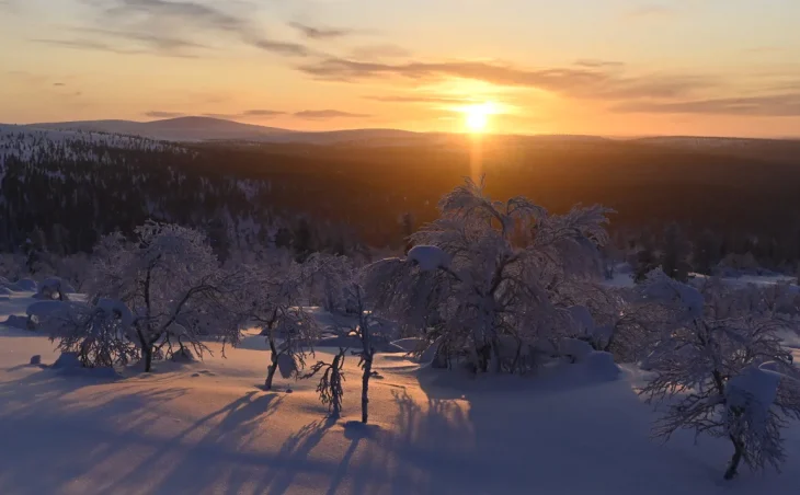
[[[492,202],[469,180],[439,209],[407,260],[368,268],[376,309],[422,333],[441,362],[461,355],[481,371],[533,367],[538,347],[567,336],[563,310],[596,293],[608,210]]]

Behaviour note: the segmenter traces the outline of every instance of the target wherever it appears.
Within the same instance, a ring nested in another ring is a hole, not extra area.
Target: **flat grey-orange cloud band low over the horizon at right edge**
[[[800,93],[768,96],[693,100],[673,103],[626,102],[614,107],[624,113],[715,114],[765,117],[800,116]]]

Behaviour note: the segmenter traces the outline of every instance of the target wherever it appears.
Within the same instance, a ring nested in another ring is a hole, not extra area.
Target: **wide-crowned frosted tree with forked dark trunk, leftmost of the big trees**
[[[240,337],[243,311],[241,274],[224,270],[205,237],[175,225],[148,222],[135,239],[105,237],[95,250],[93,297],[119,300],[134,312],[134,329],[150,371],[157,355],[174,345],[208,350],[203,337],[233,344]],[[165,347],[165,348],[164,348]]]

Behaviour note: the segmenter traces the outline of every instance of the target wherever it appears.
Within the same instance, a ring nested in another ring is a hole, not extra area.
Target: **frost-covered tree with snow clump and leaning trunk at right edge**
[[[728,438],[728,480],[742,461],[753,470],[779,468],[786,457],[781,429],[800,419],[800,373],[778,333],[797,331],[796,320],[776,312],[754,286],[711,281],[697,290],[655,274],[643,292],[674,315],[653,346],[653,376],[640,392],[665,403],[655,434],[668,439],[692,429]]]

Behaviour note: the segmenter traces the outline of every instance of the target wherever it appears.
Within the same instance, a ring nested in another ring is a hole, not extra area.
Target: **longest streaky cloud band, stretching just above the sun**
[[[425,82],[459,78],[501,87],[537,88],[574,97],[612,100],[690,96],[717,82],[702,76],[627,76],[616,66],[526,69],[488,61],[380,64],[327,58],[298,69],[318,79],[348,82],[377,78]]]

